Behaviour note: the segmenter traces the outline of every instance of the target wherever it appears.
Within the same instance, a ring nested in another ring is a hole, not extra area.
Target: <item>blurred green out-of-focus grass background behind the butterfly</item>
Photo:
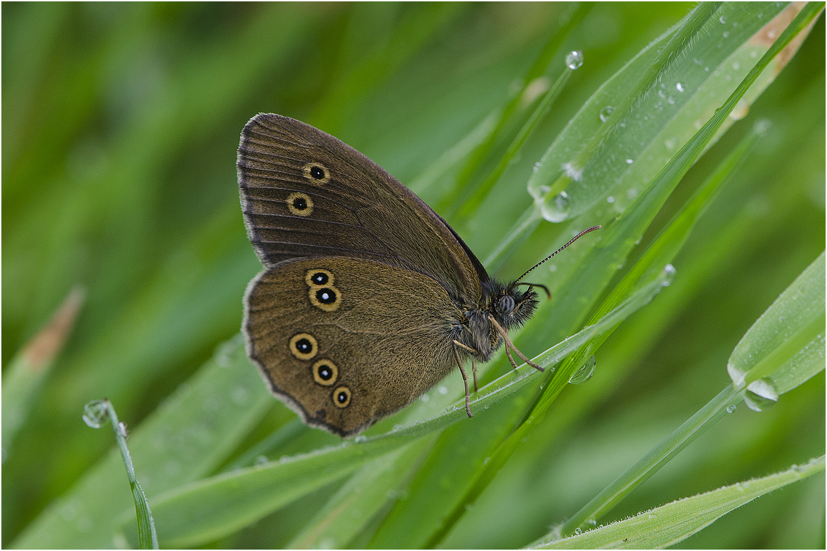
[[[593,7],[561,46],[561,51],[583,50],[586,64],[528,144],[526,165],[540,158],[600,83],[691,7],[659,2]],[[72,287],[84,285],[88,298],[3,463],[2,544],[111,447],[111,439],[81,422],[85,402],[108,397],[120,418],[136,426],[217,344],[237,334],[241,296],[261,268],[241,221],[235,169],[238,137],[251,116],[277,112],[318,126],[409,183],[508,99],[549,29],[571,10],[564,3],[517,2],[4,2],[4,368]],[[601,461],[633,462],[640,446],[629,444],[629,433],[614,423],[656,408],[667,411],[635,435],[644,443],[657,442],[653,435],[671,430],[729,382],[724,365],[740,336],[824,249],[823,17],[747,119],[681,183],[656,226],[759,117],[772,121],[772,133],[743,169],[743,183],[729,188],[707,213],[685,255],[702,255],[719,237],[715,220],[748,204],[753,217],[744,222],[743,242],[680,305],[680,316],[653,352],[637,359],[638,367],[617,383],[619,389],[580,412],[564,435],[574,444],[562,451],[523,450],[512,460],[520,467],[499,477],[490,503],[480,507],[524,515],[525,506],[508,504],[519,501],[519,488],[527,485],[545,485],[565,496],[567,482],[549,470],[552,464],[575,465],[579,472]],[[530,205],[526,179],[518,170],[506,173],[492,198],[457,226],[480,258]],[[779,181],[795,184],[787,188]],[[423,199],[437,198],[438,191],[429,188]],[[551,228],[541,226],[502,275],[514,276],[536,261]],[[610,369],[612,342],[601,349],[605,357],[598,357],[595,382],[600,369]],[[564,393],[549,417],[565,416],[565,408],[588,386]],[[739,455],[738,468],[686,450],[624,501],[613,518],[662,502],[657,481],[672,481],[672,470],[682,470],[686,484],[669,482],[670,499],[734,482],[751,473],[750,465],[759,468],[748,476],[758,476],[823,454],[824,388],[822,373],[796,390],[786,407],[760,419],[739,412],[738,425],[715,427],[697,443],[746,438],[744,427],[760,424],[763,432],[750,436],[751,451]],[[274,408],[281,411],[275,401]],[[607,449],[614,457],[601,455]],[[545,457],[543,463],[538,455]],[[606,482],[595,482],[595,491]],[[313,503],[308,507],[318,507]],[[579,505],[558,503],[569,513]],[[801,529],[790,520],[796,517],[791,511],[820,517],[820,532]],[[497,526],[507,521],[519,534],[523,525],[549,518],[549,511],[534,513],[533,520],[506,514]],[[755,526],[779,517],[787,524],[753,531],[748,539],[727,531],[730,525]],[[462,527],[479,538],[456,544],[525,543],[523,536],[498,534],[484,524]],[[261,543],[250,537],[233,544]],[[272,541],[284,543],[284,538]],[[824,477],[764,497],[688,542],[823,546]]]

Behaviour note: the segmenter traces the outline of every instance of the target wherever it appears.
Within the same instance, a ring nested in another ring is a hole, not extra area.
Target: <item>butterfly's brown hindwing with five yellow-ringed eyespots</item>
[[[247,352],[270,389],[340,435],[407,405],[454,366],[447,319],[460,312],[413,270],[292,259],[259,274],[245,305]]]

